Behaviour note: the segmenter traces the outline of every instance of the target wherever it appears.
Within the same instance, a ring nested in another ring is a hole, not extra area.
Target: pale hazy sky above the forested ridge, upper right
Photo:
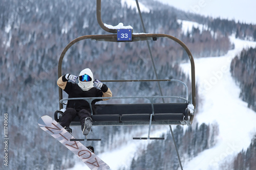
[[[255,0],[155,0],[205,16],[256,24]]]

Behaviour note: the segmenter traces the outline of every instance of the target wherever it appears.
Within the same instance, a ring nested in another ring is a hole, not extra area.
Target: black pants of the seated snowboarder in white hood
[[[84,124],[84,120],[86,120],[87,117],[91,117],[91,113],[86,109],[76,111],[74,108],[67,108],[66,111],[63,113],[60,125],[62,127],[69,127],[70,123],[76,115],[78,115],[78,117],[80,118],[80,123],[82,126]]]

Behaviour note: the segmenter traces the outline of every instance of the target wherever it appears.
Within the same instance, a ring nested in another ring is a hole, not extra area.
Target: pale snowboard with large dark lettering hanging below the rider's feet
[[[42,116],[38,119],[39,127],[65,145],[70,151],[77,155],[90,169],[110,169],[109,165],[102,161],[97,155],[91,152],[79,141],[72,141],[75,137],[66,129],[60,126],[50,116]]]

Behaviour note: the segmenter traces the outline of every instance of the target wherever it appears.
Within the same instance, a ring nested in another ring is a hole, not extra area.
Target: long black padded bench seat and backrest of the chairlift
[[[148,125],[151,114],[153,125],[183,125],[187,103],[155,103],[152,104],[95,104],[93,108],[93,125],[121,126]],[[154,112],[153,109],[154,108]],[[59,113],[59,114],[58,114]],[[63,112],[55,112],[55,120],[61,120]],[[80,126],[76,116],[70,126]]]

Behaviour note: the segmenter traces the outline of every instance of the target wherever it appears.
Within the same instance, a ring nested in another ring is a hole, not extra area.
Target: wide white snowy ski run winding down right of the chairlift
[[[199,124],[217,122],[220,134],[214,148],[186,162],[184,169],[228,169],[219,166],[246,149],[256,132],[256,113],[239,99],[240,89],[229,72],[231,59],[244,47],[255,47],[256,42],[235,39],[234,36],[230,40],[235,49],[225,56],[195,59],[198,90],[203,98],[196,119]],[[181,66],[189,74],[190,64]]]

